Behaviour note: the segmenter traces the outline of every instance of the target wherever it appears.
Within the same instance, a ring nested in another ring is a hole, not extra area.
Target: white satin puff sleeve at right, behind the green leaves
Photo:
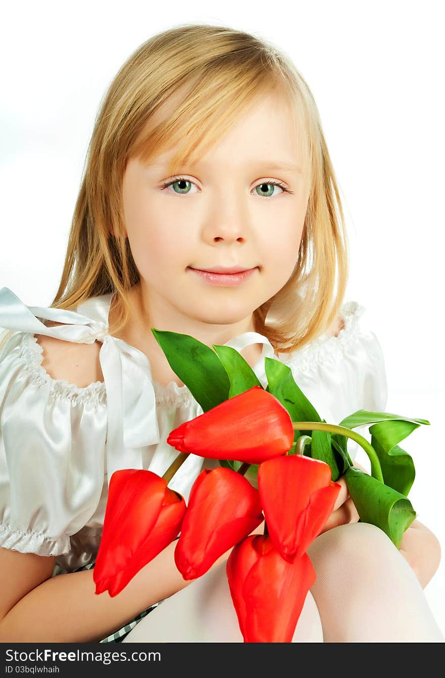
[[[320,417],[334,424],[357,410],[385,412],[387,403],[385,359],[366,308],[346,302],[341,317],[345,327],[337,336],[324,334],[281,358]],[[354,431],[370,440],[368,426]],[[347,449],[354,459],[362,448],[349,440]]]

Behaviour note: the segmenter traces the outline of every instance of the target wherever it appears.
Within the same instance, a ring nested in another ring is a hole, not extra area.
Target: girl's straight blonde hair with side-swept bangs
[[[349,263],[320,115],[286,54],[227,26],[182,24],[163,31],[140,45],[115,75],[96,117],[52,307],[75,309],[112,292],[116,317],[109,334],[117,334],[130,317],[128,290],[140,279],[123,219],[128,160],[148,162],[178,143],[171,169],[193,162],[271,91],[282,94],[293,112],[310,192],[294,271],[282,290],[256,308],[255,327],[284,353],[326,331],[343,303]],[[178,93],[172,115],[146,132],[159,106]]]

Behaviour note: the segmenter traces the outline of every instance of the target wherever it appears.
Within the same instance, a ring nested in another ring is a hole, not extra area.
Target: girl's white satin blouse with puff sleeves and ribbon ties
[[[168,434],[202,414],[187,386],[163,388],[144,353],[108,334],[111,298],[92,297],[75,312],[26,306],[0,289],[0,546],[54,555],[69,572],[96,558],[112,473],[148,468],[163,475],[178,454]],[[264,358],[279,359],[320,417],[338,424],[362,408],[385,411],[385,362],[364,311],[345,302],[338,336],[322,334],[292,353],[275,355],[256,332],[225,346],[241,351],[262,343],[253,368],[261,384],[267,386]],[[66,324],[47,327],[43,320]],[[104,382],[79,387],[47,374],[35,334],[90,344],[96,332]],[[357,448],[348,441],[352,459]],[[169,487],[187,502],[201,468],[215,464],[191,454]]]

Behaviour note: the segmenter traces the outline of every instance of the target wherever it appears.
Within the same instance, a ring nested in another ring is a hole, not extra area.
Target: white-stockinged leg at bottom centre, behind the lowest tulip
[[[292,641],[323,642],[320,615],[310,591]],[[225,561],[164,600],[122,642],[242,643]]]

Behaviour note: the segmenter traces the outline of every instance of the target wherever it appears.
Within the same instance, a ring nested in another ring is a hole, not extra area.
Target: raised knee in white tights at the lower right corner
[[[417,577],[378,527],[334,527],[307,554],[325,643],[444,642]]]

